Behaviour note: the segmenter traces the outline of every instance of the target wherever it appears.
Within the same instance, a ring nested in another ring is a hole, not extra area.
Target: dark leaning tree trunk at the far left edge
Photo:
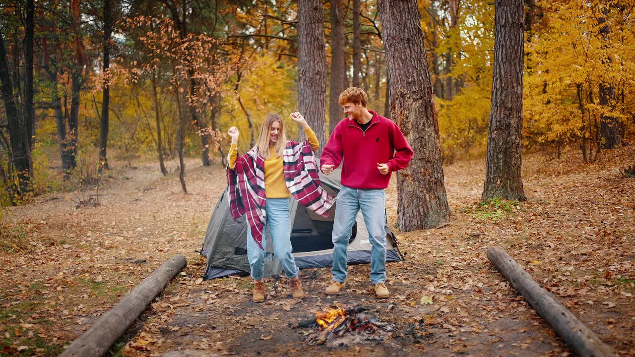
[[[9,72],[9,65],[4,51],[4,39],[0,29],[0,81],[2,82],[2,97],[4,112],[6,112],[7,126],[11,145],[11,159],[14,172],[18,178],[20,196],[31,189],[31,165],[29,142],[24,121],[20,118],[18,105],[13,95],[13,83]]]

